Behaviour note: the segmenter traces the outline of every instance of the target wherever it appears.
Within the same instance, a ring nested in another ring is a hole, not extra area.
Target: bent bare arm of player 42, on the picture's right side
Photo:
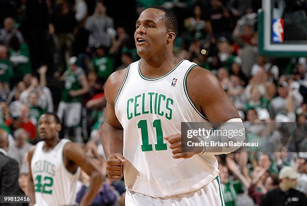
[[[104,180],[103,174],[99,171],[94,162],[85,155],[82,148],[76,143],[69,142],[65,144],[64,157],[73,161],[90,176],[90,185],[80,202],[80,205],[89,205],[102,185]]]

